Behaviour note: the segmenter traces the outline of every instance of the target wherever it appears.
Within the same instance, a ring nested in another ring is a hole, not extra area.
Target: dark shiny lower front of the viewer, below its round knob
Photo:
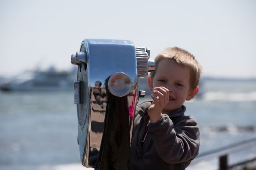
[[[131,104],[134,104],[134,94],[131,92],[118,98],[107,92],[108,109],[95,169],[130,169],[130,128],[134,113],[134,105]]]

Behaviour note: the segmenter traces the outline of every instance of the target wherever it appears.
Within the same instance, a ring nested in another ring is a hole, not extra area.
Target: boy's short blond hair
[[[154,78],[157,65],[162,59],[174,60],[176,63],[188,67],[190,69],[191,89],[194,90],[198,86],[202,73],[202,67],[191,53],[178,47],[166,48],[155,58],[156,69],[151,74],[152,78]]]

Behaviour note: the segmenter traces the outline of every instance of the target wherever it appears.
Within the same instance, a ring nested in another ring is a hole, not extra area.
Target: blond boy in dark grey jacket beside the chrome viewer
[[[131,169],[185,169],[198,155],[200,133],[183,103],[199,91],[201,67],[177,47],[162,51],[155,63],[148,78],[153,102],[136,108]]]

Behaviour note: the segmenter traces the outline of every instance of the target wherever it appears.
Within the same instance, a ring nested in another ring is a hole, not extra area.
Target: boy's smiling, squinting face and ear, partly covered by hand
[[[180,108],[185,100],[191,100],[198,92],[198,87],[191,90],[190,69],[177,64],[171,59],[162,59],[158,62],[150,89],[163,86],[169,90],[169,102],[163,111],[173,111]]]

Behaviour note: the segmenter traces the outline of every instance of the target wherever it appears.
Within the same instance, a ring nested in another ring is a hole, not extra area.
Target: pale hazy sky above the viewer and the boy
[[[69,70],[84,39],[131,40],[150,59],[192,53],[204,76],[256,77],[256,1],[0,0],[0,76]]]

